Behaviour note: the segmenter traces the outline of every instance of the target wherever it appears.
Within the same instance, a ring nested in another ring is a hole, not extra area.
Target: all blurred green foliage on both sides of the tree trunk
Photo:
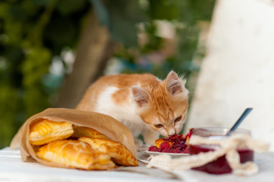
[[[53,58],[66,62],[62,51],[76,50],[79,34],[93,7],[111,36],[120,42],[115,52],[122,72],[152,72],[164,78],[174,69],[191,72],[199,27],[211,19],[214,0],[2,0],[0,2],[0,148],[8,146],[21,124],[55,103],[62,75],[52,75]],[[149,60],[151,52],[165,49],[155,20],[168,20],[176,28],[174,54],[161,63]],[[147,41],[138,44],[137,23],[143,23]],[[132,53],[130,50],[135,50]],[[138,63],[138,58],[146,60]]]

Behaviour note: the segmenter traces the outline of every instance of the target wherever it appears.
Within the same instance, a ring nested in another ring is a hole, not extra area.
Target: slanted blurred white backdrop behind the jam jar
[[[188,127],[240,125],[274,151],[274,1],[219,0]]]

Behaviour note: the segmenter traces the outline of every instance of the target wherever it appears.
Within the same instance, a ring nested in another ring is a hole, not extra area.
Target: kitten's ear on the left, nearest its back
[[[135,102],[140,107],[145,106],[151,100],[150,94],[141,87],[132,86],[131,92]]]

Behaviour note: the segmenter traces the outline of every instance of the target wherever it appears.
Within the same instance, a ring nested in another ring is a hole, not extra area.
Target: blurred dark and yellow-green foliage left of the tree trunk
[[[42,78],[63,47],[75,49],[89,9],[86,0],[0,2],[0,148],[28,117],[52,106],[56,90]]]

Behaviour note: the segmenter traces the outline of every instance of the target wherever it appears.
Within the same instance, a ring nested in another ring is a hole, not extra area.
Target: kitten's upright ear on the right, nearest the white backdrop
[[[175,95],[176,93],[187,91],[184,87],[186,80],[181,79],[178,75],[171,71],[165,79],[165,92]]]

